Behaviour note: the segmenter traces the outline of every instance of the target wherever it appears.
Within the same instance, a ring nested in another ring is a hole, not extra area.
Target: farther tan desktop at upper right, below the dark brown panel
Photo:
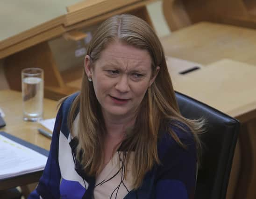
[[[201,22],[161,39],[165,54],[206,65],[233,59],[256,65],[256,30]]]

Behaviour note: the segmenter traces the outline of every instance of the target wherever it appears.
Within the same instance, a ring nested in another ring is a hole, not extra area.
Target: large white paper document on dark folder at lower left
[[[0,135],[0,179],[41,171],[47,157]]]

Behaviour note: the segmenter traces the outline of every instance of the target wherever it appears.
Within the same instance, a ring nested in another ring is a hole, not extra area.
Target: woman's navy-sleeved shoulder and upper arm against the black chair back
[[[170,130],[185,145],[180,146],[171,136]],[[193,198],[197,153],[194,136],[185,124],[170,123],[159,135],[158,157],[156,165],[156,193],[159,198],[172,195],[174,198]]]

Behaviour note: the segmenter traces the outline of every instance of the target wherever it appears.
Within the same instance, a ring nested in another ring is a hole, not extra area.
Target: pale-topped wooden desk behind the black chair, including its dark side
[[[206,103],[242,123],[227,199],[256,195],[256,67],[220,60],[186,75],[168,63],[175,90]]]

